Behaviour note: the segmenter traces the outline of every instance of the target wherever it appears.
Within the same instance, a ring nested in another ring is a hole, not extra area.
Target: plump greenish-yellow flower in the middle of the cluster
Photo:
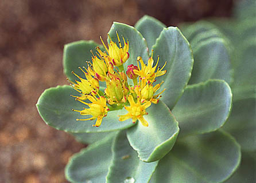
[[[120,104],[126,102],[126,97],[129,92],[127,87],[127,77],[122,72],[121,74],[115,72],[115,74],[108,73],[106,78],[105,93],[108,98],[108,104]]]

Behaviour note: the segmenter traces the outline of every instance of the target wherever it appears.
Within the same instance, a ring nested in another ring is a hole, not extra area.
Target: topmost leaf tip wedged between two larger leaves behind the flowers
[[[164,23],[158,21],[156,18],[144,15],[134,26],[146,39],[148,43],[149,53],[152,46],[156,43],[162,29],[166,27]]]

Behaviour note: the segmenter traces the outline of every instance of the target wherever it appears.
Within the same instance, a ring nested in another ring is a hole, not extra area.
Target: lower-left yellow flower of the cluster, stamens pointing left
[[[81,115],[91,115],[92,117],[87,119],[76,119],[76,121],[87,121],[97,118],[95,125],[92,126],[99,127],[100,124],[102,124],[102,118],[107,116],[107,112],[109,110],[107,107],[107,100],[103,96],[100,96],[99,98],[95,96],[88,96],[87,98],[91,101],[91,103],[84,102],[82,100],[79,100],[78,98],[76,98],[76,100],[87,105],[89,107],[88,109],[84,108],[83,110],[72,110],[75,112],[79,112]]]

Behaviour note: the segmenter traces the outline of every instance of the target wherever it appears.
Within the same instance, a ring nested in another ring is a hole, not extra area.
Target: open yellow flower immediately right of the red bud
[[[153,67],[153,64],[154,64],[153,50],[152,50],[152,55],[148,59],[148,63],[146,65],[143,62],[141,57],[137,58],[137,62],[138,62],[138,70],[134,70],[134,73],[139,75],[141,78],[146,78],[147,80],[153,81],[154,78],[164,75],[166,73],[166,70],[162,70],[162,69],[164,69],[166,62],[164,64],[164,66],[162,66],[161,69],[160,69],[160,67],[158,67],[158,69],[156,71],[156,67],[159,62],[159,57],[157,58],[157,64]],[[141,67],[139,67],[139,63],[141,63]]]

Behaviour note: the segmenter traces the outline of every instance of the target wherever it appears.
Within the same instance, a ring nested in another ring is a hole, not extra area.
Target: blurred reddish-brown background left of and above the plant
[[[229,17],[232,0],[1,0],[0,182],[67,182],[68,158],[86,145],[47,126],[36,102],[48,87],[67,85],[66,43],[100,43],[113,21],[134,25],[148,14],[167,26]]]

